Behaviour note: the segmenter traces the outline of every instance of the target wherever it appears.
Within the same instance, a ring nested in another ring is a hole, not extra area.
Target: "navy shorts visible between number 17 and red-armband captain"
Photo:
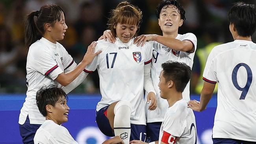
[[[147,137],[145,142],[158,141],[161,124],[162,122],[147,123]]]

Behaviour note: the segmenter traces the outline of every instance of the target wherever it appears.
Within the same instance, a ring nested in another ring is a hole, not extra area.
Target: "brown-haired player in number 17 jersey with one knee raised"
[[[149,92],[152,109],[156,108],[155,92],[150,78],[152,47],[134,44],[142,13],[128,2],[120,3],[111,12],[109,29],[115,44],[100,40],[95,50],[102,50],[85,68],[90,73],[98,70],[102,99],[96,107],[96,122],[105,135],[120,135],[125,144],[129,140],[145,140],[146,118],[143,86]],[[149,64],[149,65],[148,65]],[[67,90],[68,92],[68,90]]]

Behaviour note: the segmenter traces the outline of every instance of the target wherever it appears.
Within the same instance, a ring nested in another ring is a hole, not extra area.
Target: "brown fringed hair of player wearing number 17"
[[[111,30],[113,37],[117,37],[117,33],[114,29],[114,26],[116,26],[117,23],[135,25],[138,27],[134,35],[135,37],[139,31],[141,19],[142,12],[138,7],[130,4],[129,2],[121,2],[111,11],[111,16],[108,20],[108,28]]]

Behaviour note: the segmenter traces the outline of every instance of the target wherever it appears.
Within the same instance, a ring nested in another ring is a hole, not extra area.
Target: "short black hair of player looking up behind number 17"
[[[170,5],[173,5],[173,7],[170,7]],[[158,4],[158,6],[156,7],[156,17],[160,18],[161,11],[167,9],[168,7],[178,9],[180,19],[186,20],[186,11],[183,9],[182,5],[177,0],[162,0],[160,4]]]

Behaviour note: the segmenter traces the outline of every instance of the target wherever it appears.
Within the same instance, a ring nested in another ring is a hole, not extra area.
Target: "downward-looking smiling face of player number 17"
[[[129,42],[132,39],[132,37],[134,37],[137,28],[138,27],[136,25],[120,23],[118,23],[117,26],[115,26],[117,37],[124,43]]]

